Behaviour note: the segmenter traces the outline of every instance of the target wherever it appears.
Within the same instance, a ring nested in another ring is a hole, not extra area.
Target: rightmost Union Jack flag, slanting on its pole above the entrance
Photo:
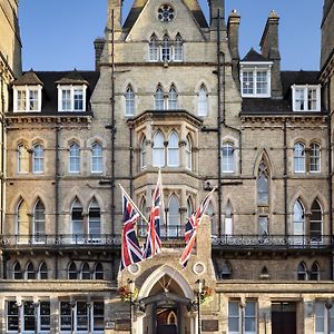
[[[191,255],[191,250],[195,246],[195,242],[196,242],[196,235],[198,233],[198,226],[200,224],[200,219],[203,217],[203,215],[205,214],[212,195],[213,193],[216,190],[216,188],[214,188],[200,203],[200,205],[198,206],[198,208],[196,209],[196,212],[188,217],[188,220],[186,223],[186,227],[185,227],[185,242],[186,242],[186,247],[181,254],[181,257],[179,258],[179,263],[180,265],[185,268],[187,266],[188,259]]]

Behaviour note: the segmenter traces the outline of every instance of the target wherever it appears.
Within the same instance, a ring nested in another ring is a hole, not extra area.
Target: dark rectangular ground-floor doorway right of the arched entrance
[[[296,334],[296,303],[272,303],[272,334]]]

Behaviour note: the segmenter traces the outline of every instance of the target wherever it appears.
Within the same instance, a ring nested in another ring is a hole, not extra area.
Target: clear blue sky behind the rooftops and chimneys
[[[127,13],[132,0],[125,0]],[[207,1],[199,0],[206,16]],[[278,12],[282,69],[320,67],[323,0],[226,0],[240,17],[243,58],[258,43],[271,10]],[[107,0],[20,0],[23,70],[94,70],[94,40],[104,36]]]

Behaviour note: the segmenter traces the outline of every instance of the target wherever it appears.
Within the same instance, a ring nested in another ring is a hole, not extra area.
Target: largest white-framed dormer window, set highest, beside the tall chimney
[[[272,62],[240,62],[242,97],[271,97]]]

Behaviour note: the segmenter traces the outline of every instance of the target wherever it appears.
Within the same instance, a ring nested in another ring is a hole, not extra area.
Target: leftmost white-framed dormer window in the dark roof
[[[42,86],[13,86],[13,111],[38,112],[42,105]]]

